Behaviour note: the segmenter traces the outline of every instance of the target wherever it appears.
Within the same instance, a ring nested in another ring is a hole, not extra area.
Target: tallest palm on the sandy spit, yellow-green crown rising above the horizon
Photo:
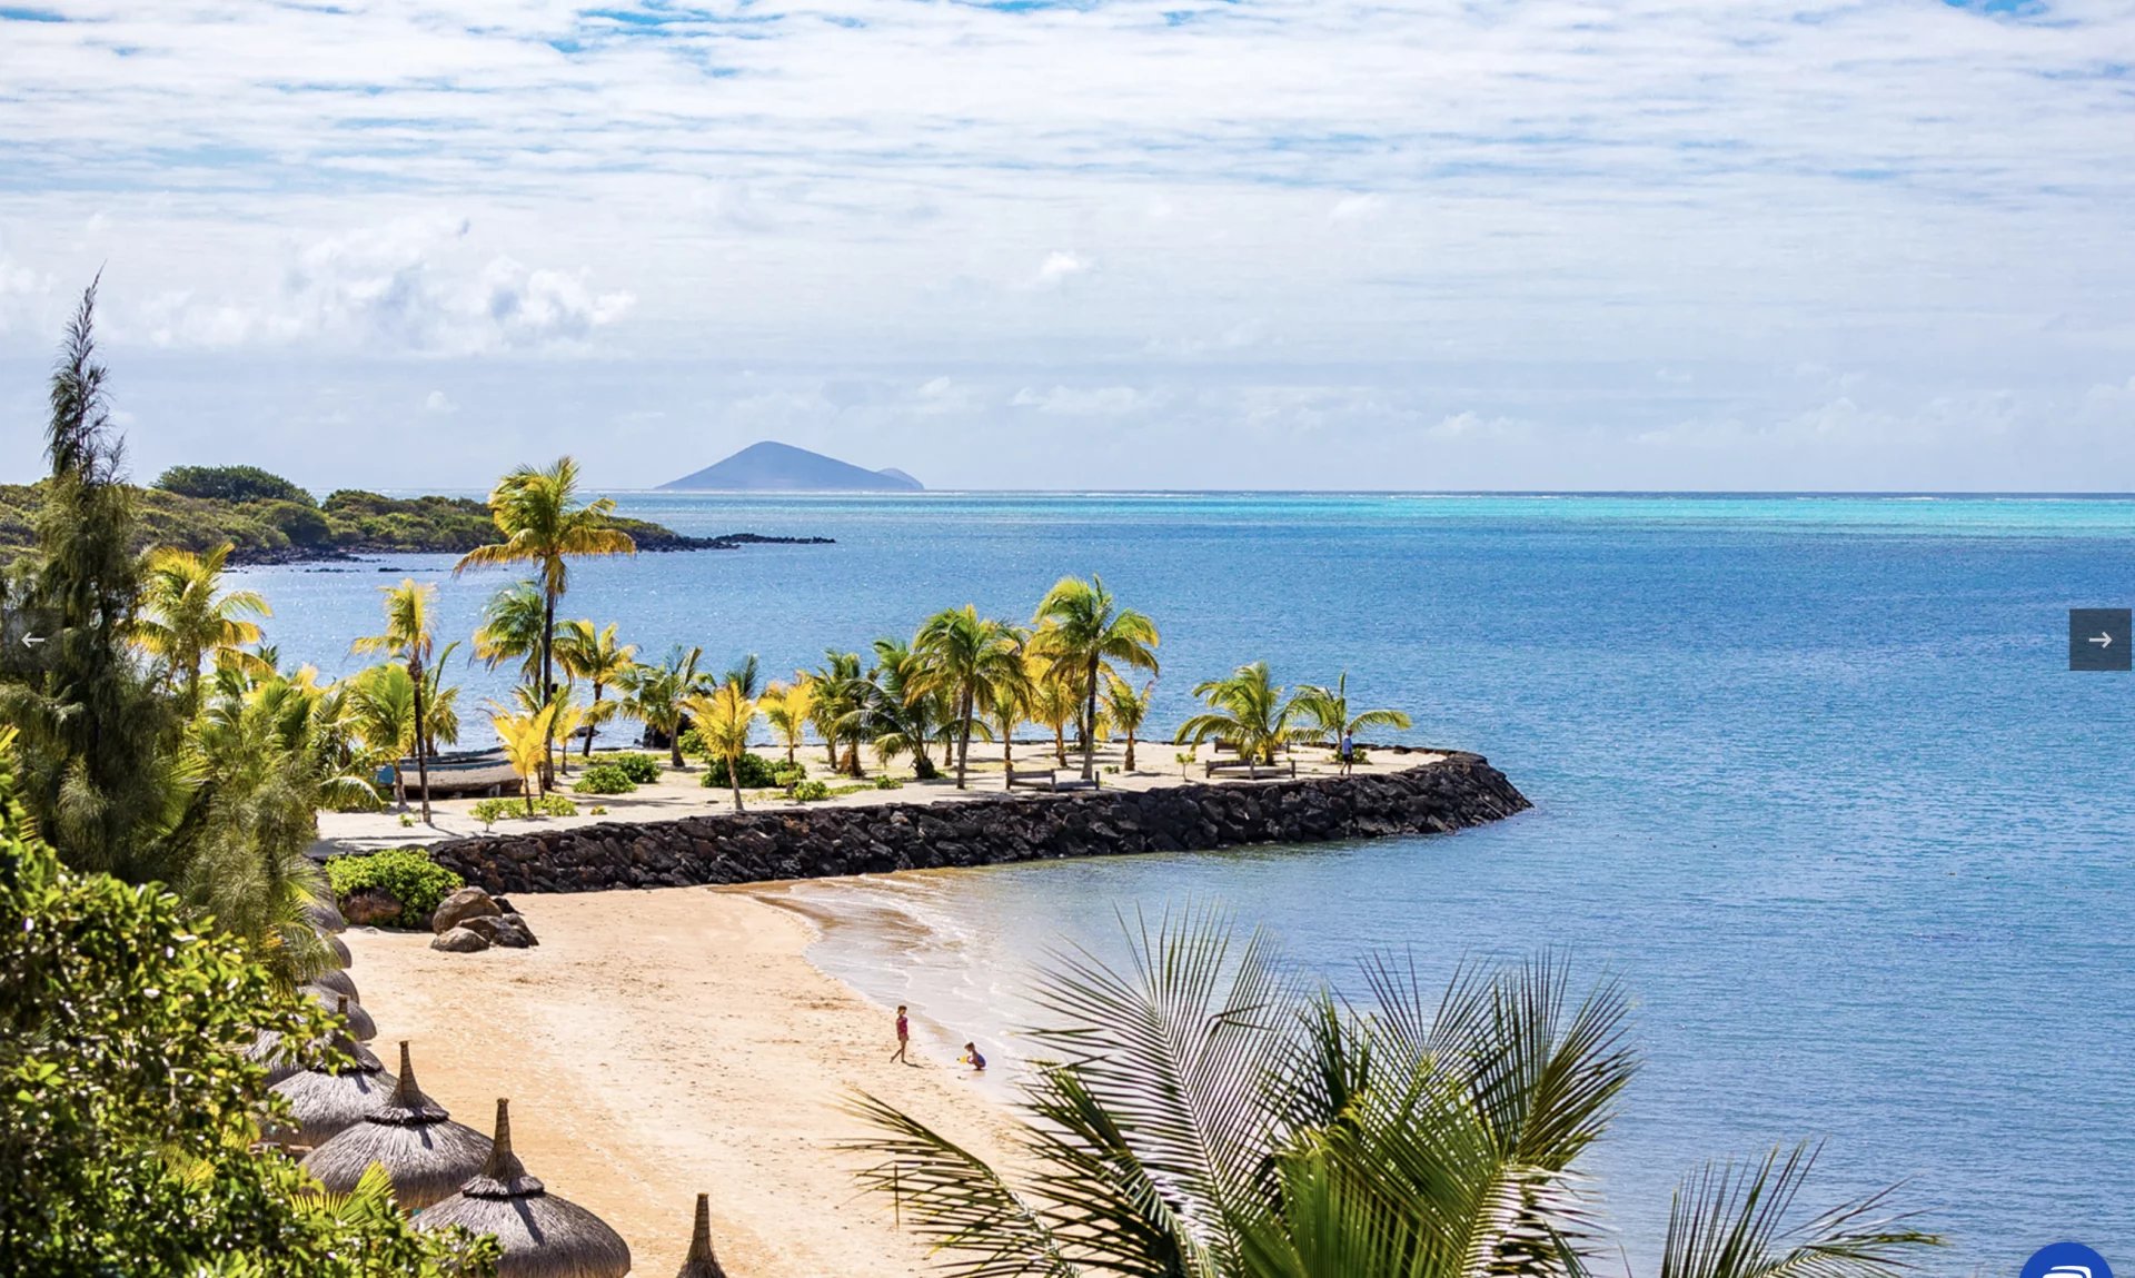
[[[547,470],[521,466],[489,494],[489,519],[504,541],[459,556],[453,575],[491,564],[534,564],[542,594],[540,686],[555,684],[555,603],[570,588],[570,560],[632,556],[638,543],[613,528],[613,498],[579,500],[579,464],[557,457]]]

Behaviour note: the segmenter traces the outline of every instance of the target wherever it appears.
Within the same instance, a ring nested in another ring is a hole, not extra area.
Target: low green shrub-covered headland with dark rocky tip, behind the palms
[[[0,485],[0,562],[26,551],[36,532],[38,485]],[[465,554],[495,541],[489,506],[470,498],[389,498],[344,487],[316,500],[258,466],[173,466],[152,487],[135,489],[141,547],[205,551],[231,543],[233,564],[305,564],[365,554]],[[826,536],[728,532],[687,536],[645,519],[613,524],[640,551],[737,549],[764,543],[824,545]]]

